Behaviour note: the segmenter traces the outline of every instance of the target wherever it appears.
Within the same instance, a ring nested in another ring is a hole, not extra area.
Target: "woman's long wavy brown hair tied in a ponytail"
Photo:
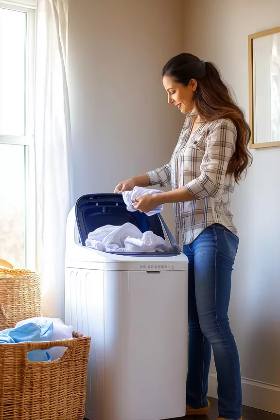
[[[182,53],[171,58],[162,69],[162,77],[171,76],[177,83],[188,86],[190,80],[197,81],[193,96],[195,114],[204,122],[227,119],[236,127],[235,152],[227,166],[227,174],[234,175],[236,182],[246,173],[252,162],[248,151],[251,130],[245,114],[236,102],[231,89],[223,81],[219,69],[210,62],[204,62],[195,55]],[[196,117],[196,115],[194,115]]]

